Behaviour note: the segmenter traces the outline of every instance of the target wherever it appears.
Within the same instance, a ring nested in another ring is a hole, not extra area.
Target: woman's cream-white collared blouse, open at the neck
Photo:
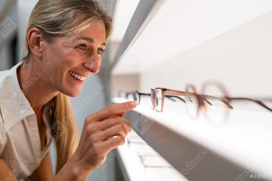
[[[41,150],[37,118],[17,78],[17,69],[21,64],[19,62],[10,70],[0,71],[0,158],[6,161],[17,179],[27,180],[49,152],[52,138],[49,120],[53,101],[45,105],[42,114],[47,127],[47,141]],[[33,81],[30,79],[29,87]]]

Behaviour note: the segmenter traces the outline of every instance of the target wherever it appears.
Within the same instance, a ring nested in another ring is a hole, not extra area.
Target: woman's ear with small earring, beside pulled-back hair
[[[42,56],[42,50],[44,47],[44,39],[39,28],[31,28],[27,33],[28,46],[32,54],[37,57]]]

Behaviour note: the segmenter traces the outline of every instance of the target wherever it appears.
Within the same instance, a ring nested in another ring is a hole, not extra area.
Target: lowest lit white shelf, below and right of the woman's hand
[[[119,146],[117,151],[118,161],[127,175],[126,180],[187,180],[133,130],[127,134],[125,144]]]

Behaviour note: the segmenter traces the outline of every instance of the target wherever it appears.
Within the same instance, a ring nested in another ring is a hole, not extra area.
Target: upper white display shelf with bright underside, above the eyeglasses
[[[151,4],[147,2],[149,1],[141,1],[141,7],[149,4],[147,7],[150,8]],[[123,39],[112,74],[147,71],[203,42],[237,28],[225,39],[229,41],[244,28],[243,24],[271,10],[271,1],[257,0],[157,1],[148,15],[146,11],[142,15],[142,9],[139,7],[126,32],[127,35],[133,32],[133,36]],[[141,26],[138,17],[146,17]],[[135,24],[138,26],[135,27]],[[220,54],[221,48],[227,45],[223,40],[223,43],[217,42],[215,46],[218,47],[211,50],[211,56]]]

